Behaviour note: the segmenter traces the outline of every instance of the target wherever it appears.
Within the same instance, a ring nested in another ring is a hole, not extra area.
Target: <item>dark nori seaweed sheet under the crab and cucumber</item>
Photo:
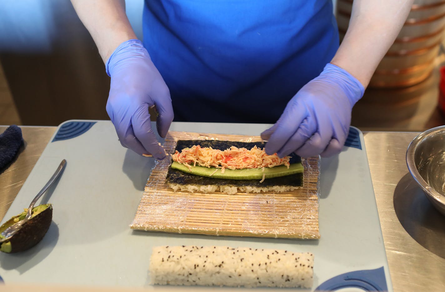
[[[181,152],[184,148],[191,148],[193,145],[200,145],[201,147],[211,147],[213,149],[226,150],[231,146],[238,148],[244,147],[247,149],[253,148],[255,145],[258,148],[264,148],[264,144],[261,142],[234,142],[234,141],[219,141],[219,140],[178,140],[175,150]],[[292,153],[291,164],[301,162],[301,157]],[[290,176],[273,177],[264,180],[262,183],[259,180],[225,180],[214,179],[206,176],[196,176],[194,174],[172,169],[171,166],[168,169],[166,182],[168,184],[192,184],[192,185],[227,185],[236,187],[273,187],[273,186],[289,186],[299,187],[303,185],[303,173],[296,173]]]

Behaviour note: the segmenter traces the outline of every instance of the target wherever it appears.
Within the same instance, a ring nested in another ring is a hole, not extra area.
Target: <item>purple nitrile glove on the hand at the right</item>
[[[332,156],[341,151],[351,124],[351,111],[364,93],[347,71],[327,64],[287,103],[279,120],[261,133],[267,154],[283,157]]]

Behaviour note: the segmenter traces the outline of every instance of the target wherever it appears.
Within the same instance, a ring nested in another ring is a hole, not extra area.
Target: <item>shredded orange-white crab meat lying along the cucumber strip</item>
[[[232,146],[224,151],[211,147],[202,148],[194,145],[191,148],[184,148],[181,152],[176,150],[171,155],[173,161],[184,164],[191,168],[191,165],[229,169],[244,168],[264,168],[278,165],[286,165],[289,168],[290,156],[279,158],[276,153],[267,155],[264,149],[254,146],[250,150],[247,148],[237,148]]]

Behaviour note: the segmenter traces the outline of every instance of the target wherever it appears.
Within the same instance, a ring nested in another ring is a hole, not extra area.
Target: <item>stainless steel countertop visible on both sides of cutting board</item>
[[[56,130],[21,128],[25,147],[0,173],[0,218]],[[405,163],[406,148],[416,135],[364,132],[364,141],[394,291],[445,291],[445,217],[414,183]]]

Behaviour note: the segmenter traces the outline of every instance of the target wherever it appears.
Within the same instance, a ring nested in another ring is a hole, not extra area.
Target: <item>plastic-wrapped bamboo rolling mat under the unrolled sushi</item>
[[[164,143],[167,153],[174,153],[178,140],[262,141],[259,136],[169,132]],[[318,239],[320,160],[310,157],[302,162],[302,188],[228,195],[174,192],[165,183],[171,162],[164,159],[155,164],[130,227],[216,236]]]

